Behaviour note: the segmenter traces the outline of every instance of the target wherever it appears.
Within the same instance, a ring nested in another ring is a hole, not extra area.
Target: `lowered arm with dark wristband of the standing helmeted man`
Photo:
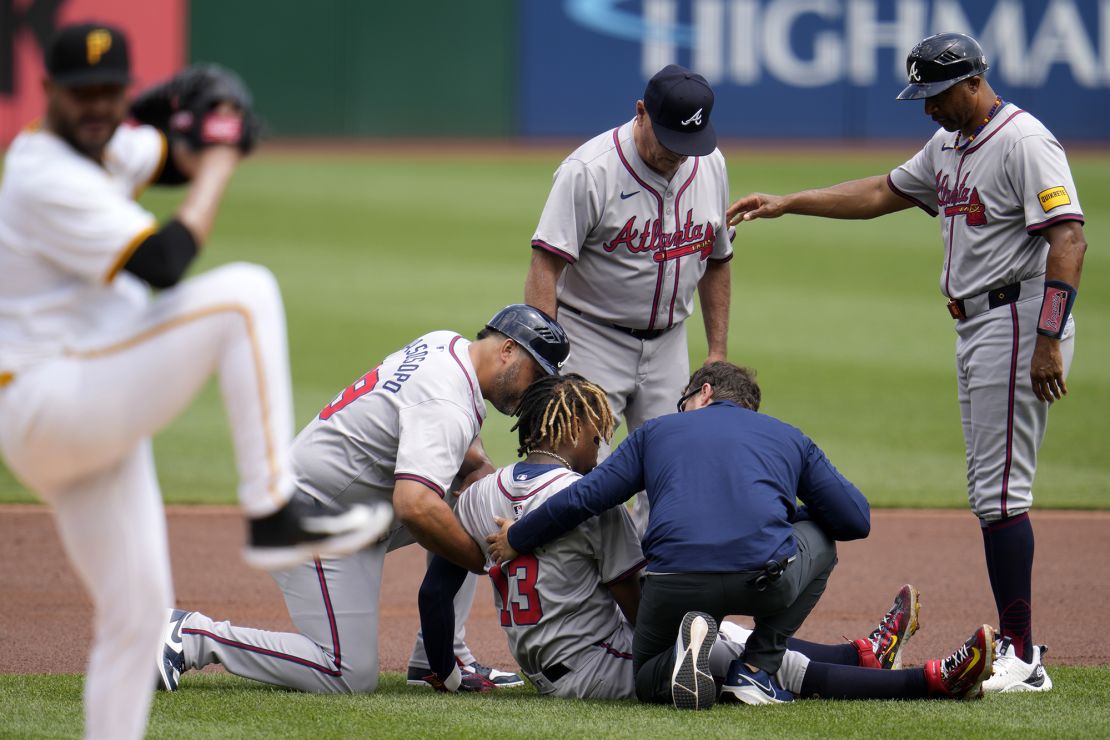
[[[1048,286],[1045,296],[1047,305],[1041,307],[1037,344],[1029,364],[1029,379],[1033,386],[1033,394],[1040,401],[1051,403],[1068,395],[1059,335],[1063,333],[1068,314],[1079,290],[1083,255],[1087,253],[1087,239],[1083,235],[1083,226],[1078,221],[1064,221],[1049,226],[1045,230],[1045,239],[1049,244],[1048,265],[1045,271]],[[1050,332],[1045,330],[1045,326],[1051,326],[1057,331]]]

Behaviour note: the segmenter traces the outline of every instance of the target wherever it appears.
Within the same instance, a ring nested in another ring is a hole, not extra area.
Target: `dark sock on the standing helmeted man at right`
[[[1033,527],[1029,514],[991,521],[983,531],[999,636],[1010,638],[1019,658],[1032,660]]]

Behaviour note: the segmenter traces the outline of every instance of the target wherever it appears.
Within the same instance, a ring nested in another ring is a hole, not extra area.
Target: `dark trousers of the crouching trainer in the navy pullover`
[[[748,638],[744,660],[768,673],[778,671],[786,640],[817,606],[837,561],[836,544],[816,524],[798,523],[794,536],[797,559],[763,591],[751,584],[759,570],[683,572],[644,579],[633,638],[633,669],[640,701],[670,702],[675,640],[687,611],[704,611],[718,624],[729,615],[751,617],[755,630]]]

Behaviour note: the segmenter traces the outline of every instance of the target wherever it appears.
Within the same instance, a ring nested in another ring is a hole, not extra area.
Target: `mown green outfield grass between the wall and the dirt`
[[[885,172],[912,146],[842,154],[728,154],[734,197]],[[528,241],[562,150],[270,153],[246,162],[194,272],[268,265],[289,316],[297,426],[385,354],[434,328],[473,336],[523,296]],[[1110,457],[1110,156],[1073,154],[1091,249],[1076,310],[1071,395],[1050,416],[1037,505],[1103,508]],[[168,214],[180,199],[144,197]],[[914,209],[875,222],[788,216],[741,225],[729,357],[759,371],[764,410],[813,436],[876,506],[966,507],[955,334],[937,288],[936,221]],[[699,317],[692,362],[705,357]],[[511,422],[483,430],[514,459]],[[212,384],[157,437],[170,503],[234,503],[223,408]],[[59,450],[64,454],[64,450]],[[0,501],[33,498],[0,469]]]

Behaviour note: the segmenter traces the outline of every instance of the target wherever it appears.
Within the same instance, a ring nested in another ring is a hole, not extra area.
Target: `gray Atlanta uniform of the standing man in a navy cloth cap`
[[[532,237],[533,249],[567,262],[557,317],[574,349],[563,371],[605,388],[629,432],[674,412],[689,379],[694,291],[707,261],[733,257],[720,150],[690,156],[668,181],[640,159],[633,126],[606,131],[563,161]],[[643,530],[643,496],[634,517]]]

